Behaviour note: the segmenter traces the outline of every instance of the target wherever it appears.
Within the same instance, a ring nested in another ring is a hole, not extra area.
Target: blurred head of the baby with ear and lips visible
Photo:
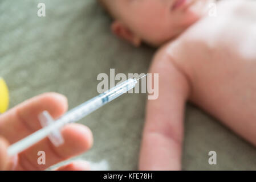
[[[160,46],[173,39],[200,17],[190,6],[197,0],[100,0],[111,14],[112,32],[139,46]]]

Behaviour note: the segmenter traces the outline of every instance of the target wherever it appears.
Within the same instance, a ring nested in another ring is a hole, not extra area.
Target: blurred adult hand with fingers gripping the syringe
[[[64,126],[62,135],[65,143],[55,147],[48,138],[31,146],[17,156],[9,158],[7,147],[41,128],[38,114],[47,110],[58,118],[67,111],[66,97],[57,93],[46,93],[34,97],[0,115],[0,170],[43,170],[56,163],[79,155],[92,146],[92,133],[88,127],[72,123]],[[38,151],[46,154],[46,164],[38,164]],[[86,170],[86,162],[73,162],[58,170]]]

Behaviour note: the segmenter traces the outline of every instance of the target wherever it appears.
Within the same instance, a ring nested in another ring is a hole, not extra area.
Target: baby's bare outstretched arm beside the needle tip
[[[165,48],[156,54],[150,73],[159,73],[159,98],[147,103],[139,169],[180,170],[188,80]]]

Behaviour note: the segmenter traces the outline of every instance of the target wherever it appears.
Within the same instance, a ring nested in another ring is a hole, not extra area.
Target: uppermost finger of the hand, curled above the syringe
[[[0,116],[0,133],[12,144],[41,128],[38,115],[47,110],[53,118],[67,111],[67,98],[45,93],[14,107]]]

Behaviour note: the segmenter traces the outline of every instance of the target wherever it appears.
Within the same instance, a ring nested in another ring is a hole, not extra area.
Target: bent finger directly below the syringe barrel
[[[91,148],[93,139],[88,127],[72,123],[62,129],[64,144],[55,147],[45,138],[19,154],[18,170],[43,170],[72,156],[81,154]],[[44,151],[45,164],[38,164],[38,152]]]

